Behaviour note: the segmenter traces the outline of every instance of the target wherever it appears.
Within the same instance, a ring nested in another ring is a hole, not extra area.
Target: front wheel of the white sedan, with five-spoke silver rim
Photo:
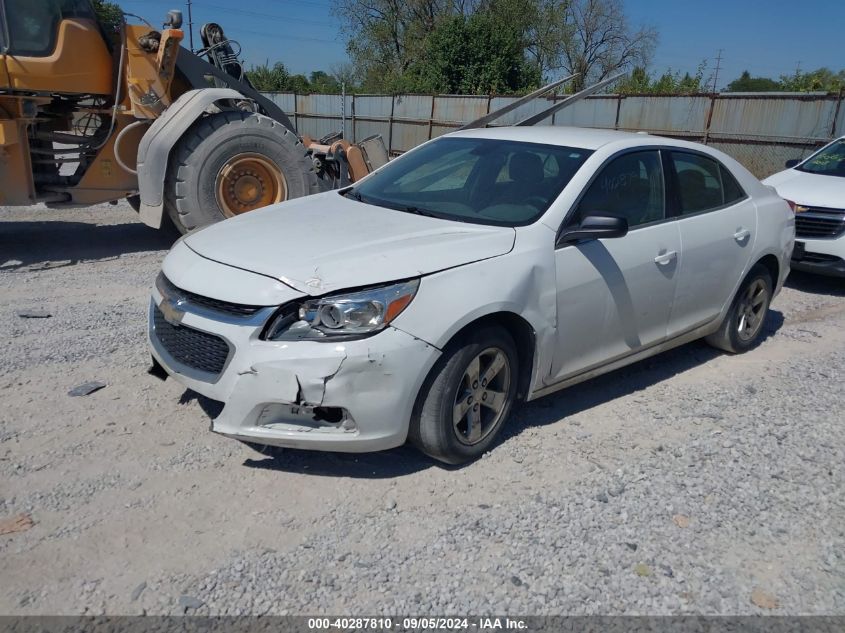
[[[470,366],[475,360],[479,364],[472,372]],[[493,372],[490,383],[484,385],[478,380],[473,389],[470,376],[475,373],[483,378],[494,360],[497,365],[503,364]],[[481,457],[495,443],[516,400],[518,369],[516,345],[500,327],[485,327],[448,345],[417,397],[408,434],[411,443],[447,464],[464,464]],[[493,385],[492,390],[484,388],[489,385]],[[491,393],[501,396],[497,399]],[[459,395],[466,413],[456,424]],[[472,424],[474,420],[481,424]]]

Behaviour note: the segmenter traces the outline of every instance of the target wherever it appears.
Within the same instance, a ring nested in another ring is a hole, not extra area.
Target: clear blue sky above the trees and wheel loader
[[[156,25],[171,8],[182,9],[187,22],[184,1],[118,1]],[[199,25],[216,21],[240,41],[248,65],[269,60],[297,73],[330,71],[347,59],[331,6],[328,0],[193,0],[195,44]],[[659,32],[653,72],[694,72],[706,60],[709,75],[719,49],[720,88],[745,69],[777,77],[799,62],[804,70],[845,68],[845,0],[625,0],[625,7],[632,23]]]

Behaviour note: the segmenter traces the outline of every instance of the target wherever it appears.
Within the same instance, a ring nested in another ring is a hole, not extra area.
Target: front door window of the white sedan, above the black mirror
[[[633,228],[666,217],[660,152],[631,152],[614,158],[599,172],[575,209],[569,225],[588,215],[615,215]]]

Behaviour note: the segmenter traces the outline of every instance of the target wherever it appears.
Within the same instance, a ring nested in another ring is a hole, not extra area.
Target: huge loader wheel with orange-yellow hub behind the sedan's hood
[[[246,189],[237,188],[246,183]],[[173,149],[165,209],[187,233],[253,209],[323,190],[299,138],[254,112],[225,111],[194,123]],[[227,204],[228,203],[228,204]]]

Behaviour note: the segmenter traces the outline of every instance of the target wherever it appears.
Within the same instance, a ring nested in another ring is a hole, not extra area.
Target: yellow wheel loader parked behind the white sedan
[[[195,54],[179,11],[161,29],[127,17],[100,24],[89,0],[0,0],[0,205],[127,198],[145,224],[185,233],[387,160],[380,139],[300,137],[217,24]]]

